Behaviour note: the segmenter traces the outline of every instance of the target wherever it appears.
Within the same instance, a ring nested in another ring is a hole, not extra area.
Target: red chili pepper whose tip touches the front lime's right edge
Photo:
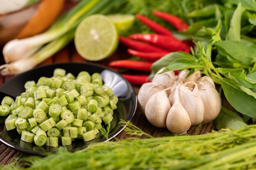
[[[136,49],[138,51],[143,51],[143,52],[169,52],[166,49],[161,49],[159,47],[155,47],[153,45],[147,44],[145,42],[139,42],[132,40],[130,38],[126,38],[123,36],[119,36],[119,41],[123,43],[124,45]]]

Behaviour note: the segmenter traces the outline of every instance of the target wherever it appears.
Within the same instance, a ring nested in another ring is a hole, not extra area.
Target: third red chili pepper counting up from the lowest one
[[[168,52],[150,52],[150,53],[145,53],[141,51],[135,51],[133,49],[128,49],[128,53],[132,56],[137,56],[142,59],[150,60],[150,61],[156,61],[159,58],[162,58],[166,54],[169,54]]]

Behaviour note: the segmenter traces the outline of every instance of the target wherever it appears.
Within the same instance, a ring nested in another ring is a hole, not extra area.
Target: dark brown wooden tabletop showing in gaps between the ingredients
[[[100,62],[94,62],[94,63],[98,63],[98,64],[106,66],[106,65],[108,65],[109,62],[111,62],[113,60],[126,59],[129,57],[130,56],[126,52],[126,47],[124,47],[123,45],[119,45],[117,51],[110,58],[100,61]],[[54,56],[45,60],[40,65],[48,65],[51,63],[63,63],[63,62],[67,63],[67,62],[72,62],[72,61],[73,62],[81,62],[81,63],[86,62],[86,60],[83,59],[76,52],[73,42],[71,42],[70,45],[68,45],[61,51],[59,51]],[[4,64],[4,60],[3,60],[2,56],[0,57],[0,64],[1,65]],[[11,77],[12,76],[0,76],[0,85],[2,85],[2,83],[4,83],[4,82],[8,81],[8,79]],[[132,85],[132,87],[137,94],[139,91],[139,86]],[[149,133],[155,137],[162,136],[161,132],[163,130],[167,130],[165,128],[155,128],[153,125],[151,125],[147,121],[146,116],[143,114],[143,112],[141,112],[141,110],[139,110],[139,107],[137,107],[137,111],[135,113],[135,116],[132,119],[132,123],[134,125],[136,125],[137,127],[141,128],[141,130],[143,130],[144,132]],[[213,122],[210,122],[210,123],[201,125],[199,128],[197,126],[192,126],[188,130],[188,134],[193,134],[193,135],[194,134],[204,134],[204,133],[210,132],[212,129],[215,129],[215,127],[213,125]],[[117,136],[117,138],[124,139],[128,136],[130,136],[130,135],[127,135],[126,132],[123,131]],[[144,138],[144,136],[142,136],[141,138]],[[22,152],[8,148],[6,145],[0,143],[0,163],[1,164],[7,164],[11,159],[18,157],[21,154],[22,154]],[[26,155],[24,155],[24,156],[26,156]]]

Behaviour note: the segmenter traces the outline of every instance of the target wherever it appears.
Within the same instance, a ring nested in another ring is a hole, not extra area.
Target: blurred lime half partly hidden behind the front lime
[[[116,13],[107,16],[114,22],[119,33],[126,32],[132,27],[135,21],[135,17],[131,14]]]

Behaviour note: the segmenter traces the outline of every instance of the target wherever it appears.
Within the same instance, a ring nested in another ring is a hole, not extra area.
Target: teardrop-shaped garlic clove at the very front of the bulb
[[[168,112],[166,127],[175,134],[184,134],[191,127],[189,114],[179,100],[176,100]]]

